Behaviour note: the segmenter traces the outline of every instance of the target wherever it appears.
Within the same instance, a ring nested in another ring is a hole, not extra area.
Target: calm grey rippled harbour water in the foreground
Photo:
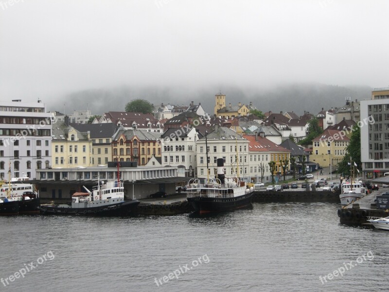
[[[211,217],[3,217],[0,277],[35,268],[0,291],[388,291],[389,232],[340,225],[337,208],[254,203]],[[343,276],[319,280],[357,259]],[[175,270],[178,279],[169,279]]]

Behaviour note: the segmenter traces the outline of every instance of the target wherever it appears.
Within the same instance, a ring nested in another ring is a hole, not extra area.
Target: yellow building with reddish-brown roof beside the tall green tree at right
[[[313,148],[310,161],[318,163],[322,167],[330,166],[330,164],[336,167],[346,154],[346,147],[350,144],[350,135],[350,130],[326,129],[312,140]]]

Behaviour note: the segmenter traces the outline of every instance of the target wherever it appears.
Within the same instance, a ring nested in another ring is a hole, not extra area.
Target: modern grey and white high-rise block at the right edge
[[[389,171],[389,87],[376,88],[361,106],[361,162],[365,179]]]

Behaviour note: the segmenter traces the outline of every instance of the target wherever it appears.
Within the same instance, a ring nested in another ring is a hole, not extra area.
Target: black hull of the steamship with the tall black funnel
[[[210,212],[223,212],[236,210],[247,207],[251,204],[254,192],[248,192],[242,196],[233,198],[209,198],[209,197],[192,197],[187,198],[195,212],[200,214]]]

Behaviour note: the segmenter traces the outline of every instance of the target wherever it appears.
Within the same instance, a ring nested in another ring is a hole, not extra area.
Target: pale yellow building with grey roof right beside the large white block
[[[80,132],[64,122],[53,125],[52,167],[90,166],[92,141],[89,132]]]

